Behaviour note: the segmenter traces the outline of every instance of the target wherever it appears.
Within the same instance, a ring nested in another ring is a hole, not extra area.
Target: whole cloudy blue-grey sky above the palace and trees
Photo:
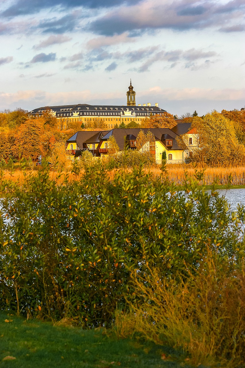
[[[245,105],[245,0],[0,0],[0,110]]]

